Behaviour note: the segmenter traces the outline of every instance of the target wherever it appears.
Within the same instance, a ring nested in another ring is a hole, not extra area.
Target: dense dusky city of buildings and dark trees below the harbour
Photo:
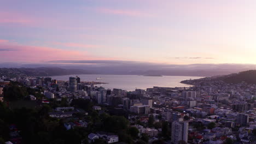
[[[0,78],[0,143],[253,143],[256,85],[105,89],[69,77]]]

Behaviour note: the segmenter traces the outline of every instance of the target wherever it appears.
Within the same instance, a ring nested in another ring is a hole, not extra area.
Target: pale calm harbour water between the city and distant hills
[[[56,80],[68,81],[69,77],[76,75],[64,75],[64,76],[51,76]],[[180,83],[183,80],[188,79],[200,79],[202,77],[197,76],[139,76],[139,75],[77,75],[80,77],[81,81],[95,81],[95,82],[105,82],[106,84],[101,84],[97,86],[102,86],[104,88],[120,88],[127,91],[135,91],[136,88],[146,89],[157,87],[190,87],[191,85],[186,85]],[[100,80],[96,80],[100,77]]]

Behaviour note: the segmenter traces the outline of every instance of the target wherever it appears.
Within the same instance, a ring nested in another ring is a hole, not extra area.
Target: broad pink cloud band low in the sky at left
[[[7,42],[6,40],[1,40]],[[87,52],[54,49],[52,47],[27,46],[15,43],[0,43],[2,62],[43,62],[60,59],[92,59]]]

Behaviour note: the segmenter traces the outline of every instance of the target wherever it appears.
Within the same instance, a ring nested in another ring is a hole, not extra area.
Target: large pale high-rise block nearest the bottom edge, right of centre
[[[179,141],[188,142],[188,122],[172,123],[172,143],[177,144]]]

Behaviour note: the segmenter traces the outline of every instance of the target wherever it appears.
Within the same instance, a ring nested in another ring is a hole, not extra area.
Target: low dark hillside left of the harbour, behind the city
[[[0,68],[0,76],[16,77],[16,76],[57,76],[57,75],[79,75],[92,74],[88,70],[81,69],[62,69],[53,67],[41,68]]]

